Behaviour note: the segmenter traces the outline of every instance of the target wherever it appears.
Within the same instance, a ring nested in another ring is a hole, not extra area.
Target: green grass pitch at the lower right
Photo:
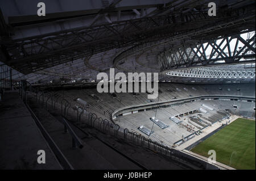
[[[234,169],[255,169],[255,121],[238,118],[191,149],[205,157],[209,150],[216,151],[216,161]]]

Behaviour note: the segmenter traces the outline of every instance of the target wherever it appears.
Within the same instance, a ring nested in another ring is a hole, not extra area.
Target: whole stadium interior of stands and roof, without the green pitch
[[[0,0],[0,169],[240,168],[190,150],[255,122],[254,0],[38,3]]]

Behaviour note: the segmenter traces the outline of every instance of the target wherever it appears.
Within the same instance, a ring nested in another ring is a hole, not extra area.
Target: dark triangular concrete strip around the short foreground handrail
[[[72,136],[69,133],[64,133],[64,125],[61,123],[62,117],[59,115],[54,117],[48,111],[40,108],[38,104],[28,102],[74,169],[141,169],[116,151],[102,144],[101,141],[81,132],[71,124],[73,131],[80,137],[84,145],[82,149],[72,149]]]

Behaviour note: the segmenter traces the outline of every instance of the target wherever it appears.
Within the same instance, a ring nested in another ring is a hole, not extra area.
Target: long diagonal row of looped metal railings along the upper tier
[[[60,104],[61,115],[64,117],[64,119],[68,120],[71,103],[69,103],[67,99],[60,99],[60,95],[34,89],[34,87],[32,87],[30,84],[27,87],[24,81],[23,83],[20,83],[20,85],[19,94],[22,96],[23,101],[27,102],[27,92],[29,91],[36,95],[36,103],[38,103],[40,106],[42,106],[42,108],[46,110],[49,110],[50,108],[52,110],[56,110],[56,103]],[[82,115],[85,115],[85,117],[82,117]],[[87,119],[85,119],[86,117]],[[88,112],[84,107],[80,106],[76,108],[76,121],[80,128],[82,124],[86,124],[89,127],[95,128],[102,133],[110,134],[121,140],[125,140],[126,142],[130,142],[134,145],[141,146],[142,148],[152,150],[155,153],[167,155],[171,158],[177,158],[180,157],[179,155],[182,155],[182,158],[185,158],[184,154],[176,154],[177,150],[172,149],[169,146],[159,144],[156,141],[152,141],[150,138],[148,139],[136,132],[131,132],[127,128],[121,128],[118,124],[112,123],[112,121],[109,121],[108,119],[98,117],[96,113]],[[180,157],[178,159],[182,158]],[[206,163],[201,163],[201,165],[205,164]]]

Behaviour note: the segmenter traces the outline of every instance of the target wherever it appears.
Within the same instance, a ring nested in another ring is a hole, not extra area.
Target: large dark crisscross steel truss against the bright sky
[[[207,43],[201,41],[194,47],[192,45],[172,47],[158,55],[158,62],[162,70],[255,62],[255,31],[245,31]]]

